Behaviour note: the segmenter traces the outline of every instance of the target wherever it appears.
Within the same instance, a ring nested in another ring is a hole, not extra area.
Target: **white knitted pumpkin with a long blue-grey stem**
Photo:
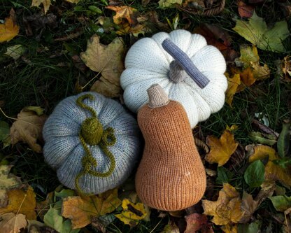
[[[225,59],[199,34],[176,30],[142,38],[127,52],[125,68],[123,97],[135,113],[148,102],[146,90],[154,83],[183,105],[192,128],[225,103]]]

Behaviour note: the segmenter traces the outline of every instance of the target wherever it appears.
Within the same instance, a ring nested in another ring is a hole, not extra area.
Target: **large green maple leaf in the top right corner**
[[[264,19],[257,16],[255,11],[248,22],[236,20],[236,27],[233,29],[258,48],[274,52],[285,52],[282,41],[290,35],[286,21],[276,22],[269,29]]]

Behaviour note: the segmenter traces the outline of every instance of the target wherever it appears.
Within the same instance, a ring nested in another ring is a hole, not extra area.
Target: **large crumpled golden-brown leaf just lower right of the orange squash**
[[[239,192],[227,183],[223,184],[216,202],[202,200],[202,207],[205,215],[213,216],[212,222],[215,225],[239,223],[244,214],[241,209]]]

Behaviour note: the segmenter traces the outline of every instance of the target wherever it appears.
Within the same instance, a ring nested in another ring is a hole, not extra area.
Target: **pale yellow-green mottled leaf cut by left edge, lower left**
[[[12,166],[1,165],[0,166],[0,208],[5,207],[8,204],[7,191],[20,187],[20,178],[9,174]]]

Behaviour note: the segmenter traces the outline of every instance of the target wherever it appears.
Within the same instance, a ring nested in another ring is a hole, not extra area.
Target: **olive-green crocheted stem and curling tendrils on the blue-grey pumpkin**
[[[80,192],[81,195],[90,195],[83,192],[83,190],[81,190],[80,188],[79,180],[81,176],[85,176],[85,174],[90,174],[97,177],[107,177],[110,176],[115,169],[115,158],[110,150],[108,150],[108,146],[113,146],[116,143],[114,129],[109,127],[104,130],[101,122],[97,118],[97,113],[94,111],[94,109],[83,103],[83,100],[87,98],[90,100],[94,100],[94,96],[92,94],[84,94],[77,99],[78,106],[87,109],[87,111],[90,111],[90,113],[92,114],[92,118],[87,118],[83,121],[79,132],[79,139],[85,150],[85,156],[82,158],[83,170],[76,176],[75,185],[76,190]],[[92,170],[92,168],[97,167],[98,164],[97,161],[94,159],[87,144],[89,144],[90,146],[98,145],[101,150],[103,150],[104,154],[108,157],[111,163],[108,171],[102,173]]]

